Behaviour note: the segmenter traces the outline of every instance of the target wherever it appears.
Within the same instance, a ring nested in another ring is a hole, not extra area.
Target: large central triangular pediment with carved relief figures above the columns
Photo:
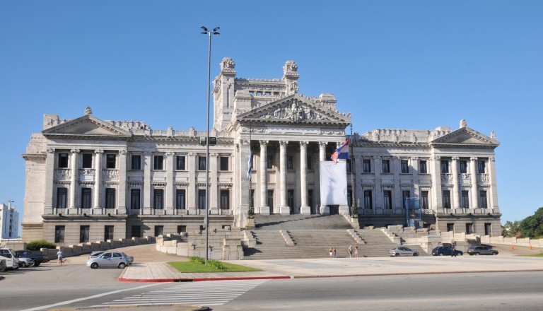
[[[316,105],[301,95],[289,95],[266,105],[256,107],[237,116],[238,122],[292,122],[349,124],[350,115],[344,115],[328,109],[324,105]]]

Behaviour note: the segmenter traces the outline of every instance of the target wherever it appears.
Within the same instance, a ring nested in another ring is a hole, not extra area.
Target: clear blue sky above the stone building
[[[540,206],[543,1],[0,1],[0,202],[23,212],[30,134],[44,114],[206,129],[223,57],[241,78],[333,93],[354,131],[496,132],[502,223]]]

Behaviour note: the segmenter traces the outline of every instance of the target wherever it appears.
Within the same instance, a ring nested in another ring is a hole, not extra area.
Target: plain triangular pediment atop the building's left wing
[[[92,115],[84,115],[77,119],[59,124],[42,131],[45,136],[110,136],[130,137],[132,133],[119,129]]]

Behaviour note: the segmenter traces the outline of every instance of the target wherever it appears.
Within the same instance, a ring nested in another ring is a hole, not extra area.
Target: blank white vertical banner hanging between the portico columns
[[[347,163],[320,161],[320,204],[347,205]]]

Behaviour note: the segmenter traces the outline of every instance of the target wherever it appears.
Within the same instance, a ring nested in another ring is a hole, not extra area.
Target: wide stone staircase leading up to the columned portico
[[[348,247],[358,245],[360,257],[383,257],[395,246],[380,229],[353,229],[341,215],[255,216],[255,247],[244,248],[243,259],[303,259],[349,257]],[[408,246],[426,255],[421,247]]]

